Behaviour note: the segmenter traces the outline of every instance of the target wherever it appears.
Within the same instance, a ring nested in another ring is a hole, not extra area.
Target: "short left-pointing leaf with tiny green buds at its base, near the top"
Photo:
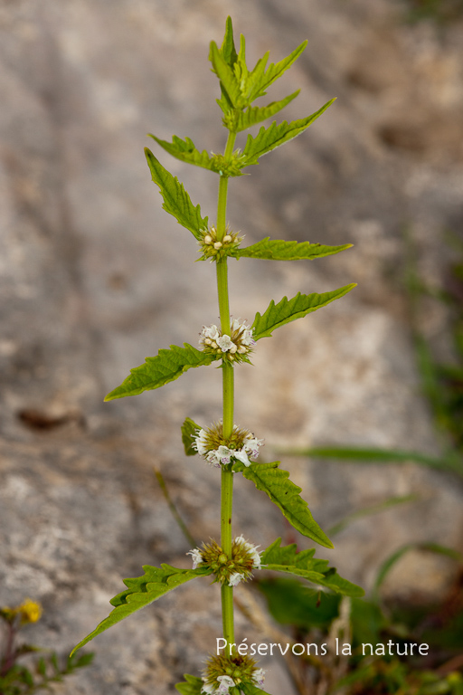
[[[184,138],[183,140],[175,135],[172,138],[172,142],[167,142],[167,140],[156,138],[156,135],[152,133],[148,133],[148,136],[156,140],[157,144],[164,148],[172,157],[180,159],[187,164],[193,164],[195,167],[209,169],[216,174],[220,174],[220,176],[242,176],[243,172],[241,169],[246,166],[245,158],[240,152],[233,152],[231,159],[227,160],[221,154],[210,156],[205,149],[203,149],[203,152],[200,152],[199,149],[194,147],[194,142],[191,138]]]

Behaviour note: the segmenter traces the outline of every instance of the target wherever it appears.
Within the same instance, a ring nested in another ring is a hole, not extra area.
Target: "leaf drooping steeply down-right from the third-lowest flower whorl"
[[[321,546],[334,547],[326,533],[318,526],[308,509],[306,500],[300,497],[301,488],[289,480],[288,471],[281,471],[279,461],[272,463],[233,464],[233,472],[241,472],[252,481],[258,490],[265,492],[277,505],[292,527],[307,538],[317,541]]]

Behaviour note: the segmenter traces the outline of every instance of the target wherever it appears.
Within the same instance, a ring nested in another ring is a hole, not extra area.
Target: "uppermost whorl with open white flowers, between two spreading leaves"
[[[231,321],[230,336],[222,334],[221,328],[215,324],[203,326],[200,333],[199,345],[204,352],[222,357],[229,362],[249,362],[248,355],[256,344],[250,328],[245,321],[233,319]]]

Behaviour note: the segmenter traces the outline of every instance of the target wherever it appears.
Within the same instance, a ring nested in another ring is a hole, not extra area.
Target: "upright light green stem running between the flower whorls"
[[[225,148],[225,159],[231,157],[236,133],[229,133]],[[228,176],[221,176],[219,201],[217,206],[217,239],[221,241],[226,230]],[[217,262],[217,290],[221,315],[222,335],[230,336],[230,304],[228,298],[228,268],[226,256]],[[233,367],[229,362],[222,363],[223,388],[223,437],[227,439],[233,431]],[[222,467],[221,494],[221,546],[225,555],[231,557],[231,510],[233,502],[233,473],[228,466]],[[222,625],[223,637],[234,643],[233,628],[233,587],[222,585]]]

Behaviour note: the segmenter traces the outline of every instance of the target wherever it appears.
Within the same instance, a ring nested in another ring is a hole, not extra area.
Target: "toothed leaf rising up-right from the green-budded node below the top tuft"
[[[270,152],[272,149],[279,148],[280,145],[288,142],[288,140],[297,138],[298,135],[303,133],[304,130],[307,130],[314,120],[317,120],[334,101],[335,99],[330,99],[321,109],[318,109],[311,116],[307,116],[306,119],[293,120],[291,123],[284,120],[278,126],[277,122],[274,121],[267,129],[262,126],[255,138],[248,135],[246,146],[243,150],[246,166],[258,164],[259,157],[267,154],[267,152]]]

